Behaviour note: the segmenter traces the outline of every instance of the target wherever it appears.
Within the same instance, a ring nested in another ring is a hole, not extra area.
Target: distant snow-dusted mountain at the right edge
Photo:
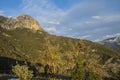
[[[100,43],[120,53],[120,35],[105,39]]]

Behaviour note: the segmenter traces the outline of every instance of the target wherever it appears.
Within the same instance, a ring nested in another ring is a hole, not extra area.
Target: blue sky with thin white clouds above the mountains
[[[20,14],[58,36],[100,41],[120,35],[120,0],[0,0],[0,15]]]

